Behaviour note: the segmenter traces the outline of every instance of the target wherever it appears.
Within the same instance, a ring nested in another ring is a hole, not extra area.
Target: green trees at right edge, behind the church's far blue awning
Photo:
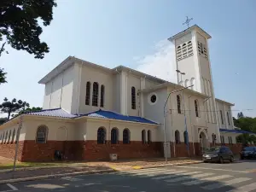
[[[241,128],[242,131],[250,131],[256,133],[256,118],[245,117],[243,113],[237,114],[238,119],[233,118],[234,125]],[[236,137],[237,143],[242,143],[244,145],[248,143],[256,143],[256,137],[249,134],[242,134]]]

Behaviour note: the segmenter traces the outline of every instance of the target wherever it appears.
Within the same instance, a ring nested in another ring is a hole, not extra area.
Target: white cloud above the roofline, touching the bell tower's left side
[[[174,46],[168,40],[155,44],[153,54],[134,58],[138,63],[138,71],[177,83]]]

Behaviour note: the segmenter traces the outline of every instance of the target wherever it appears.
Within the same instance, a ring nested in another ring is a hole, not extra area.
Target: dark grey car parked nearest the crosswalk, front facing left
[[[204,154],[202,155],[202,160],[204,162],[219,163],[224,163],[224,160],[234,162],[234,154],[232,153],[230,148],[225,146],[206,148]]]

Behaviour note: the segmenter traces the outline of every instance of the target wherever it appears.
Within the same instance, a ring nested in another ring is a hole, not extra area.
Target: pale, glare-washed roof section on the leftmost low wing
[[[78,117],[78,115],[68,113],[67,111],[63,110],[62,108],[44,109],[44,110],[35,111],[35,112],[26,112],[25,114],[48,116],[48,117],[59,117],[59,118],[69,118],[69,119]]]

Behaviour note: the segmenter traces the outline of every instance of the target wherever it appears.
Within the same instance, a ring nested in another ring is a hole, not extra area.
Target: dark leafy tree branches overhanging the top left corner
[[[49,47],[39,38],[43,29],[38,25],[38,20],[41,19],[44,26],[49,26],[56,6],[55,0],[0,1],[0,56],[7,43],[14,49],[26,50],[35,58],[43,59]]]

